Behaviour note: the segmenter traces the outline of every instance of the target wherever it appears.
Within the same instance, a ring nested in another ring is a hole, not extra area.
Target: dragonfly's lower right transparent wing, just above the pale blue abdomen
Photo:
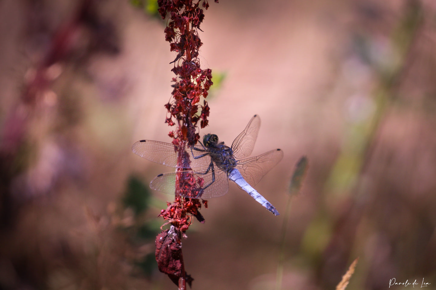
[[[259,156],[238,160],[236,168],[241,172],[244,179],[251,186],[254,186],[262,179],[263,175],[276,166],[282,158],[283,151],[274,149]]]

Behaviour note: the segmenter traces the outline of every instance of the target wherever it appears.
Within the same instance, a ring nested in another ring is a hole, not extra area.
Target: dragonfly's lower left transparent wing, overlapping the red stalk
[[[191,198],[209,199],[223,196],[228,192],[227,174],[215,168],[215,181],[212,171],[204,174],[207,167],[201,171],[186,170],[178,172],[167,172],[157,175],[151,182],[150,187],[160,192],[174,194],[176,181],[181,188],[181,196]],[[207,186],[209,185],[209,186]]]

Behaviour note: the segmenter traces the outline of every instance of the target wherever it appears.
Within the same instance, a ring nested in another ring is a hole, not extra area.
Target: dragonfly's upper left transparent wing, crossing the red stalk
[[[208,166],[211,163],[210,156],[206,154],[207,151],[201,146],[189,146],[184,149],[170,143],[141,140],[132,145],[132,151],[142,158],[171,167],[196,168]],[[177,166],[179,155],[181,155],[184,163]]]

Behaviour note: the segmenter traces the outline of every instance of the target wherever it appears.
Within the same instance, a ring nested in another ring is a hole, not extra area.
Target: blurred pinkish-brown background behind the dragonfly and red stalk
[[[253,154],[282,148],[256,189],[230,185],[184,240],[192,289],[436,285],[436,2],[210,1],[209,126],[231,143],[254,114]],[[154,261],[171,171],[134,155],[170,142],[175,53],[146,0],[0,1],[0,288],[176,289]],[[288,186],[300,156],[309,170]],[[400,289],[404,286],[391,287]]]

